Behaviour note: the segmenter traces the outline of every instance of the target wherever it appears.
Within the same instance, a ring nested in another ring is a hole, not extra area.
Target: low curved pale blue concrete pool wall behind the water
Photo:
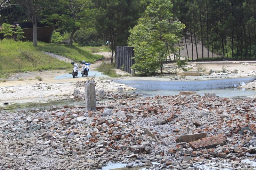
[[[239,78],[220,78],[210,80],[190,80],[190,81],[159,81],[159,80],[121,80],[113,81],[129,85],[141,90],[177,90],[177,91],[194,91],[223,89],[239,85],[240,82],[249,83],[256,77],[239,77]]]

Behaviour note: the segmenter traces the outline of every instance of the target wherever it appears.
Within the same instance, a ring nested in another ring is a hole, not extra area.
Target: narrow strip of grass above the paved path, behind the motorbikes
[[[46,51],[64,57],[70,57],[76,62],[81,62],[83,60],[86,62],[94,62],[95,60],[102,58],[102,55],[93,55],[89,51],[86,51],[82,48],[69,46],[67,44],[49,44],[45,42],[39,42],[36,48],[40,51]]]

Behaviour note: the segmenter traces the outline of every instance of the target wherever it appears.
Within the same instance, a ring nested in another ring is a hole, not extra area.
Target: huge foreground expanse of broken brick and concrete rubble
[[[0,169],[92,169],[108,162],[185,169],[255,153],[256,99],[180,92],[0,115]]]

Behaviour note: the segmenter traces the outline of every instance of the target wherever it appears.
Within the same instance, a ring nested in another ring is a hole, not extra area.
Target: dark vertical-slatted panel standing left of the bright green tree
[[[134,64],[134,47],[116,47],[116,68],[131,73],[132,64]]]

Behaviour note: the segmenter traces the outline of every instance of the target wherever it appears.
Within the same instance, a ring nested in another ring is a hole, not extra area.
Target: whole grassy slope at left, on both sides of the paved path
[[[0,41],[0,77],[14,72],[70,69],[71,65],[45,55],[42,51],[69,56],[76,60],[95,61],[102,56],[92,55],[77,47],[39,42],[37,47],[32,42],[13,40]]]

